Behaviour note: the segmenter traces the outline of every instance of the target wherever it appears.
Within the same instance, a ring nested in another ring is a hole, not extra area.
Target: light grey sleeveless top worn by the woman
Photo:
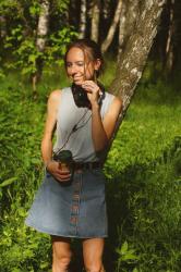
[[[104,120],[113,98],[113,95],[105,94],[100,109],[101,120]],[[72,132],[75,125],[76,129]],[[76,107],[71,87],[61,90],[56,135],[55,152],[60,148],[61,150],[71,150],[74,161],[77,162],[98,161],[101,158],[101,152],[98,156],[95,152],[92,139],[92,110]]]

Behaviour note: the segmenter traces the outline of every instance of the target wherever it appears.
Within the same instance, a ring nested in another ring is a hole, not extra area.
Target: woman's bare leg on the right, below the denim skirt
[[[86,272],[104,272],[102,252],[104,238],[89,238],[83,240],[83,257]]]

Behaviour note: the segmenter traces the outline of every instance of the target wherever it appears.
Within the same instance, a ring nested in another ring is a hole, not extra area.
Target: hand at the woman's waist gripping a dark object
[[[50,161],[46,169],[52,174],[59,182],[68,182],[71,178],[71,173],[68,168],[61,168],[61,163],[57,161]]]

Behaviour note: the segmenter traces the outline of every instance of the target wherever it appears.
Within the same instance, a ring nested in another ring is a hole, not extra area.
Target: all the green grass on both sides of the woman
[[[113,77],[109,60],[102,82]],[[0,271],[50,269],[48,235],[24,219],[43,178],[40,139],[46,102],[68,84],[58,69],[45,73],[34,99],[17,74],[0,84]],[[59,77],[60,76],[60,77]],[[109,238],[108,272],[180,272],[181,98],[174,84],[143,76],[105,164]],[[81,248],[73,265],[80,272]],[[40,260],[40,261],[39,261]]]

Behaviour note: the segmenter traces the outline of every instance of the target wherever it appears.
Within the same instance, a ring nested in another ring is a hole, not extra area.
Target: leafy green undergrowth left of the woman
[[[39,119],[45,106],[35,107],[17,83],[15,88],[9,83],[1,86],[0,102],[0,271],[38,271],[37,267],[47,271],[49,237],[35,236],[24,225],[34,188],[41,180]]]

